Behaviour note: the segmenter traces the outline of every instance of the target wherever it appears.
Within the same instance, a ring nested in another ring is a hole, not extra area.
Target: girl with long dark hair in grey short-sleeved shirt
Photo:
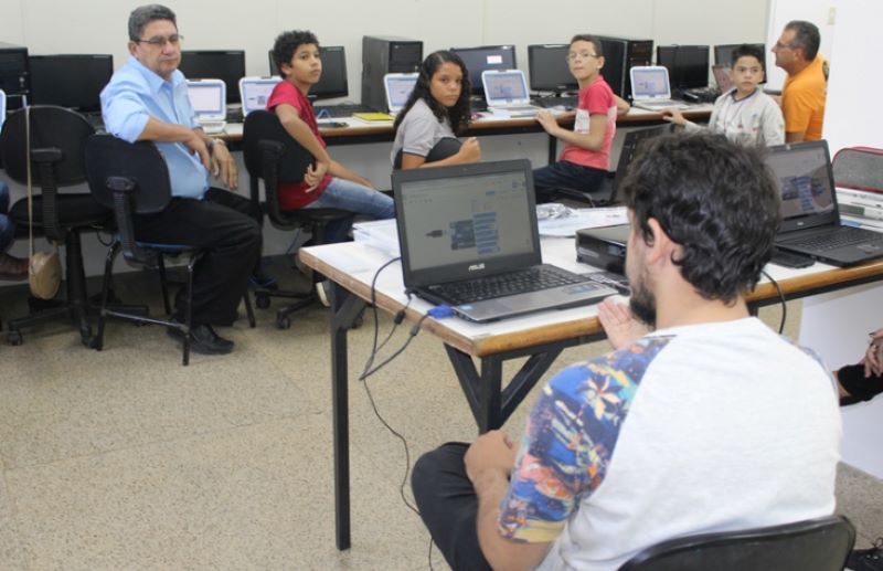
[[[481,159],[478,139],[456,148],[456,133],[469,124],[469,72],[457,54],[433,52],[421,64],[419,77],[395,118],[390,160],[394,169],[465,165]],[[435,152],[434,152],[435,149]],[[433,155],[442,155],[433,160]]]

